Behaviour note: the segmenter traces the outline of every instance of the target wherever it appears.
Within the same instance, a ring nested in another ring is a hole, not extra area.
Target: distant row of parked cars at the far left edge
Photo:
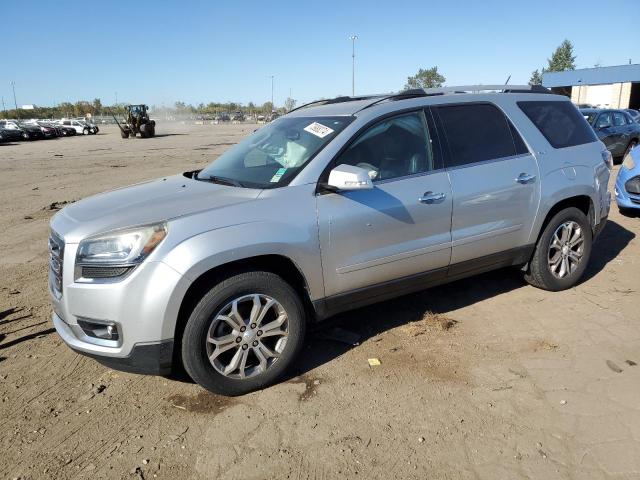
[[[61,120],[0,120],[0,143],[95,135],[97,125],[84,119]]]

